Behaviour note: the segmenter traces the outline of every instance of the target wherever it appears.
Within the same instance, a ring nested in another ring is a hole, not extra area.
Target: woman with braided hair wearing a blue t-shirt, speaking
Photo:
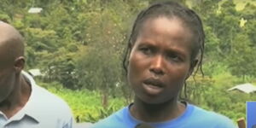
[[[201,19],[191,9],[165,2],[143,10],[124,61],[134,102],[93,127],[236,127],[223,115],[178,101],[186,79],[201,67],[204,39]]]

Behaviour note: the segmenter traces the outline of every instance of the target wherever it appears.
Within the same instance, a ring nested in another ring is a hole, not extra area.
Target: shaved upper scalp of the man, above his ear
[[[13,62],[24,56],[23,38],[13,26],[0,21],[0,59],[5,63]]]

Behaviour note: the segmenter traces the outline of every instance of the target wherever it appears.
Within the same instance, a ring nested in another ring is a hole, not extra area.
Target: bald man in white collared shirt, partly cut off
[[[24,47],[20,33],[0,21],[0,128],[72,128],[67,103],[23,71]]]

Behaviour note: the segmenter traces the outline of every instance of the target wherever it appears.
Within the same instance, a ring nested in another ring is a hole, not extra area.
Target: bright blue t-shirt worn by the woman
[[[102,119],[92,128],[134,128],[142,121],[132,117],[129,107],[120,109],[106,119]],[[154,128],[236,128],[232,120],[224,115],[213,113],[188,104],[185,112],[166,122],[148,123]]]

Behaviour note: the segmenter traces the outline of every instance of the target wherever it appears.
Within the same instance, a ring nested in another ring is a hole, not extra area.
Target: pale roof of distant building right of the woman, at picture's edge
[[[247,84],[238,84],[238,85],[230,88],[229,91],[230,90],[239,90],[243,93],[249,94],[249,93],[253,93],[253,92],[256,91],[256,86],[254,86],[253,84],[249,84],[249,83],[247,83]]]

